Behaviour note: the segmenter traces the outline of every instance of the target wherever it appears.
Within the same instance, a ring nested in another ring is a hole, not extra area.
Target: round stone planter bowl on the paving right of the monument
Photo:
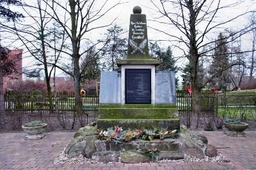
[[[243,131],[248,127],[248,124],[238,120],[225,120],[223,124],[225,125],[224,133],[228,136],[245,137]]]

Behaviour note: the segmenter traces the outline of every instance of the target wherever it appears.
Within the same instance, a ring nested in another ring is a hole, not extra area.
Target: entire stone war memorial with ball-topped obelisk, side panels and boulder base
[[[159,60],[149,59],[147,20],[139,6],[129,26],[127,59],[118,61],[120,72],[101,72],[99,118],[74,134],[67,157],[124,163],[184,159],[184,153],[216,157],[203,134],[180,131],[175,73],[156,71]]]

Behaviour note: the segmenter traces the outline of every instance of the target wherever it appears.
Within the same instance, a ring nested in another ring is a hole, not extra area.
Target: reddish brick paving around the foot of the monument
[[[204,133],[231,162],[54,165],[53,160],[74,133],[49,132],[40,141],[25,141],[24,133],[2,133],[0,169],[256,169],[256,132],[246,132],[246,138],[227,137],[223,132]]]

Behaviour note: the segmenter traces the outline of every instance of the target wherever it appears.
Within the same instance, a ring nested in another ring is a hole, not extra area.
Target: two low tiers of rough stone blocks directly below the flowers
[[[124,162],[138,163],[148,162],[150,159],[141,154],[143,150],[159,150],[158,160],[162,159],[184,159],[184,152],[179,150],[177,139],[154,139],[154,141],[145,141],[136,139],[130,143],[104,143],[104,141],[95,141],[97,152],[93,153],[92,159],[100,162]]]

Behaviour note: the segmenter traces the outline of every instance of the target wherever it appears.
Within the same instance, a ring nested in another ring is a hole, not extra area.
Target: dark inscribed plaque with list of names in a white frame
[[[125,69],[125,103],[150,104],[151,69]]]

